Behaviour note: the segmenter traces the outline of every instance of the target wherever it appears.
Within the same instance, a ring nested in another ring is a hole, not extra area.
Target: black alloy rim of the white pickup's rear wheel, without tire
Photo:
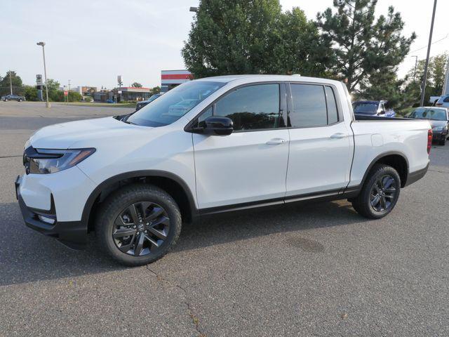
[[[387,211],[396,197],[396,180],[388,174],[375,181],[370,193],[371,207],[376,212]]]

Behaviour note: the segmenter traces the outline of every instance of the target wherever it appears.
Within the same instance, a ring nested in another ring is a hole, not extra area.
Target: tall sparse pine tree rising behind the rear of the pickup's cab
[[[331,71],[347,81],[349,91],[366,91],[384,75],[391,77],[406,57],[413,33],[404,37],[401,14],[389,7],[375,19],[377,0],[334,0],[333,7],[318,13],[317,24],[325,41],[332,44],[335,64]]]

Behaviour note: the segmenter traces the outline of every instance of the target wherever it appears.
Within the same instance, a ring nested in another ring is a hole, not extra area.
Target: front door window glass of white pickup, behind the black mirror
[[[215,103],[213,114],[232,119],[236,131],[277,128],[279,96],[279,84],[244,86]]]

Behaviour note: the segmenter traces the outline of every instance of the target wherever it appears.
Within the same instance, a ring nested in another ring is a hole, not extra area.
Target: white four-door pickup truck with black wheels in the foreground
[[[183,220],[211,213],[349,199],[382,218],[427,172],[431,127],[361,118],[338,81],[199,79],[133,114],[37,131],[16,192],[29,227],[74,248],[95,230],[127,265],[161,258]]]

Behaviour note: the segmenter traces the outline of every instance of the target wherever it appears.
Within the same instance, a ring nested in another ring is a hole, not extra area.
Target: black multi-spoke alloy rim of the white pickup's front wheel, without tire
[[[157,253],[170,231],[170,218],[159,204],[140,201],[127,206],[114,221],[112,238],[117,248],[131,256]]]

